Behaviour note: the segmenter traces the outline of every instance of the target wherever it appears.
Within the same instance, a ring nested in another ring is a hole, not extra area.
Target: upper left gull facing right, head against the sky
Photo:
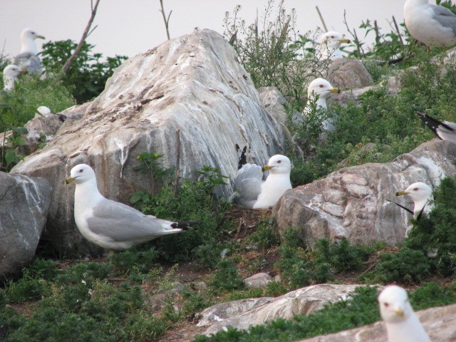
[[[14,64],[26,73],[41,74],[41,60],[36,56],[38,54],[36,38],[44,39],[33,28],[24,28],[21,33],[21,53],[14,58]]]

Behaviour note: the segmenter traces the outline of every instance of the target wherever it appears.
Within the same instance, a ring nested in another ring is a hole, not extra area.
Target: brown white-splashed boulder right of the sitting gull
[[[346,167],[322,180],[287,190],[273,207],[280,231],[298,227],[304,242],[349,239],[396,245],[405,238],[411,214],[386,199],[414,182],[439,185],[456,172],[456,145],[433,139],[393,162]],[[395,199],[413,209],[408,197]]]

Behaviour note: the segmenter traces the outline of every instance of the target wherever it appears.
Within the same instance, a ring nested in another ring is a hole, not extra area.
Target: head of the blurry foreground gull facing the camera
[[[378,309],[385,323],[407,321],[413,314],[407,292],[400,286],[386,286],[378,295]]]

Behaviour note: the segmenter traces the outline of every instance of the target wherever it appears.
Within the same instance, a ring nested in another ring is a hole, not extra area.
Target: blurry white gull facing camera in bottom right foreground
[[[388,342],[430,342],[403,288],[386,286],[378,296],[378,307],[385,322]]]

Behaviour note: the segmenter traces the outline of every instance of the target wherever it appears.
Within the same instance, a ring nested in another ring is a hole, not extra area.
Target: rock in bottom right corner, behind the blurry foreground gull
[[[456,304],[416,312],[431,341],[456,341]],[[387,342],[383,322],[296,342]]]

